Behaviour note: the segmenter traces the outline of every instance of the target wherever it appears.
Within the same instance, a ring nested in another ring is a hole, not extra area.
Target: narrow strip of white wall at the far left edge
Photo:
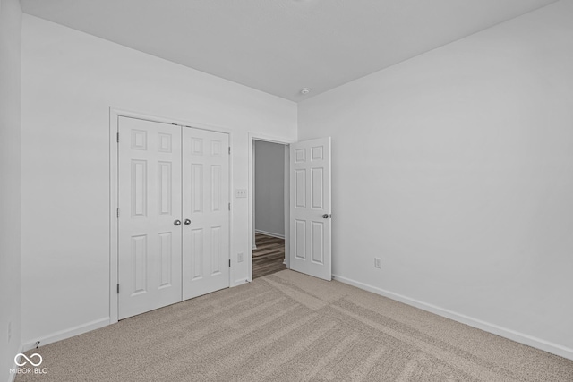
[[[0,380],[21,350],[21,8],[0,0]],[[12,335],[8,341],[8,324]]]

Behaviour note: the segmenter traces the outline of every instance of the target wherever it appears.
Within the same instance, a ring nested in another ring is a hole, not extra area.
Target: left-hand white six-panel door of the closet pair
[[[181,127],[119,118],[119,311],[182,299]]]

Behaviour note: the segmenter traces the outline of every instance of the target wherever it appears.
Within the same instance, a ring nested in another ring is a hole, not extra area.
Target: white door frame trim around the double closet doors
[[[134,112],[117,107],[109,107],[109,324],[115,324],[118,321],[119,298],[117,294],[117,280],[119,278],[119,225],[117,222],[117,203],[119,198],[119,180],[118,180],[118,155],[119,146],[117,145],[117,132],[119,131],[119,117],[137,118],[150,122],[170,123],[184,127],[209,130],[210,132],[223,132],[229,136],[229,147],[233,147],[233,132],[222,126],[216,126],[207,123],[188,122],[174,118],[168,118],[158,115],[148,115],[145,113]],[[229,211],[229,259],[233,250],[233,221],[234,221],[234,200],[233,195],[233,155],[235,150],[231,149],[229,155],[229,201],[231,210]],[[229,269],[229,286],[234,283],[234,267]]]

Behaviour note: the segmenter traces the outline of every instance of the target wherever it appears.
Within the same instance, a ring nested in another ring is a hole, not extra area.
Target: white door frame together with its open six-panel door
[[[278,143],[284,149],[286,268],[324,280],[332,279],[331,139],[288,141],[249,133],[249,276],[255,245],[255,141]],[[241,254],[239,254],[241,255]],[[242,259],[239,256],[239,259]],[[241,261],[241,260],[239,260]]]

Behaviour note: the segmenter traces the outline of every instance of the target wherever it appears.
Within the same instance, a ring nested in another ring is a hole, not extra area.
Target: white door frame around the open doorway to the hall
[[[285,147],[285,260],[286,260],[286,267],[289,268],[289,250],[290,250],[290,161],[289,161],[289,147],[291,143],[295,143],[296,140],[282,138],[282,137],[275,137],[267,134],[261,134],[258,132],[249,132],[249,157],[248,157],[248,191],[247,195],[249,196],[248,200],[248,210],[249,210],[249,241],[247,243],[247,261],[249,266],[248,271],[248,282],[252,282],[252,247],[254,242],[254,157],[253,157],[253,149],[254,149],[254,141],[255,140],[263,140],[265,142],[271,143],[278,143],[280,145],[284,145]]]

